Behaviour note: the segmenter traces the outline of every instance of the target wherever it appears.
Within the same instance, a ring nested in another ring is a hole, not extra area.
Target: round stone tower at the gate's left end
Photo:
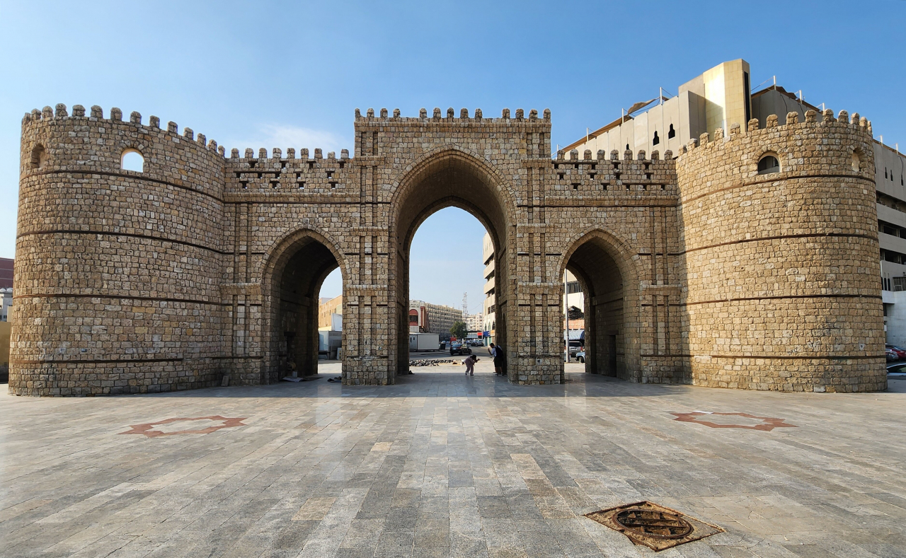
[[[216,383],[222,148],[153,116],[60,104],[25,115],[21,160],[9,390]]]

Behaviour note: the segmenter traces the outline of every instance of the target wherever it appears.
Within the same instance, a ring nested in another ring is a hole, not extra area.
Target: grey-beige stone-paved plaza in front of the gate
[[[0,555],[649,556],[583,515],[650,500],[726,530],[658,556],[906,556],[906,380],[776,393],[572,364],[565,385],[516,386],[463,368],[4,392]]]

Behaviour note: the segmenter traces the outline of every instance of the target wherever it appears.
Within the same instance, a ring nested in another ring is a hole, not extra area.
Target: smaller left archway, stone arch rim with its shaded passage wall
[[[318,294],[327,275],[348,270],[342,253],[323,232],[304,228],[275,243],[262,272],[262,383],[318,370]],[[343,328],[342,346],[345,346]]]

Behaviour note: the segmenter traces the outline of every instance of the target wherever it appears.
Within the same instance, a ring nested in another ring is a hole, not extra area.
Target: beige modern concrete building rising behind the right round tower
[[[786,91],[776,80],[754,91],[757,87],[751,87],[749,75],[744,60],[721,63],[680,85],[676,96],[668,98],[670,93],[662,91],[660,98],[635,103],[620,119],[560,149],[560,153],[572,149],[579,153],[584,149],[616,149],[621,153],[625,149],[648,153],[671,149],[677,153],[700,134],[717,128],[729,130],[733,124],[745,128],[750,119],[758,120],[758,129],[768,126],[771,115],[776,115],[778,126],[786,125],[787,114],[793,112],[799,121],[805,120],[806,111],[816,111],[816,120],[823,120],[823,103],[806,102],[802,91]],[[874,139],[873,155],[884,330],[887,342],[906,345],[906,156],[898,145],[884,145],[881,139]]]

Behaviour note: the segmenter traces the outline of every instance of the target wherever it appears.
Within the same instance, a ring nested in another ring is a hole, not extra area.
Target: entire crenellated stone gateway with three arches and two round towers
[[[9,390],[101,395],[317,369],[342,271],[342,381],[409,366],[416,229],[462,207],[494,244],[495,342],[515,383],[564,381],[564,270],[586,370],[785,391],[886,386],[871,125],[757,120],[679,153],[550,159],[550,111],[355,115],[354,156],[232,149],[157,117],[26,114]],[[140,170],[121,167],[138,152]],[[759,172],[766,155],[779,168]],[[226,377],[226,378],[225,378]]]

